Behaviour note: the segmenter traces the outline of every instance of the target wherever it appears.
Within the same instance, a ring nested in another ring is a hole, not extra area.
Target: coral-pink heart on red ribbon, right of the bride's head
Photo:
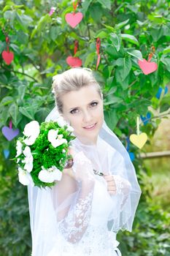
[[[139,59],[138,61],[139,67],[144,72],[144,75],[148,75],[158,69],[158,65],[155,62],[150,62],[155,53],[155,47],[152,46],[151,50],[152,52],[149,54],[148,61],[146,59],[143,59],[142,61]]]

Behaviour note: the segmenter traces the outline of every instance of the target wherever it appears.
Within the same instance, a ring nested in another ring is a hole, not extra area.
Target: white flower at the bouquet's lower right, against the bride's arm
[[[48,169],[45,169],[44,166],[42,166],[42,170],[39,172],[39,179],[40,181],[52,183],[53,181],[61,181],[62,172],[61,170],[58,170],[57,167],[54,165]]]

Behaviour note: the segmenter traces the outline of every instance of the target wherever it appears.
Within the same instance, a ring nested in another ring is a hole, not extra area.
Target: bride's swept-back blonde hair
[[[80,90],[83,86],[96,86],[96,90],[103,99],[101,86],[93,77],[91,69],[85,67],[73,67],[64,71],[61,74],[53,76],[53,93],[55,94],[55,104],[58,107],[59,113],[63,113],[63,102],[61,96],[69,91]]]

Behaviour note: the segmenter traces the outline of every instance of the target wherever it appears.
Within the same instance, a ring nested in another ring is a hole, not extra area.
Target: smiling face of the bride
[[[74,128],[74,135],[82,143],[96,144],[104,121],[103,100],[96,86],[84,86],[79,91],[70,91],[61,100],[63,118]]]

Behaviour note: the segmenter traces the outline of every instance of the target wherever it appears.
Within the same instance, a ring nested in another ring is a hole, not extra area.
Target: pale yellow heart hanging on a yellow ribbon
[[[140,134],[139,132],[139,116],[137,116],[136,127],[137,127],[137,131],[136,131],[137,134],[131,135],[130,140],[131,140],[131,143],[133,143],[135,146],[141,149],[144,146],[144,144],[147,142],[147,134],[145,132],[142,132]]]

